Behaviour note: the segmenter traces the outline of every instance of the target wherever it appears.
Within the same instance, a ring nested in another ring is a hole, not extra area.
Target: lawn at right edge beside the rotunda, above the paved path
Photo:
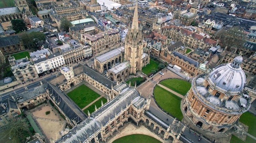
[[[253,114],[245,112],[240,116],[239,121],[247,125],[249,127],[248,133],[256,137],[256,117]]]

